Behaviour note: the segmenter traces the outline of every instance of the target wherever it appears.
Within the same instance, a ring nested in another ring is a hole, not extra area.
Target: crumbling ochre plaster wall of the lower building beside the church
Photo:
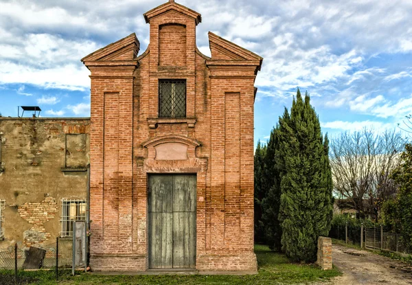
[[[62,169],[69,167],[67,161],[77,168],[89,163],[89,125],[89,119],[81,118],[0,117],[0,200],[5,201],[5,240],[0,241],[0,249],[14,242],[26,246],[40,242],[36,234],[34,241],[23,239],[34,225],[34,230],[44,229],[45,234],[39,236],[47,238],[45,244],[53,242],[61,230],[62,198],[86,198],[87,172]]]

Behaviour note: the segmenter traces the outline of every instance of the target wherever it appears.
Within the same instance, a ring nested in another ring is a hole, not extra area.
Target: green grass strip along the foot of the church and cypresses
[[[258,275],[91,275],[79,274],[70,276],[70,271],[60,271],[60,284],[164,284],[164,285],[194,285],[194,284],[310,284],[311,282],[321,282],[329,280],[331,277],[341,275],[337,269],[322,271],[312,264],[291,263],[285,255],[273,253],[268,247],[255,245],[255,253],[258,256]],[[1,280],[9,275],[5,271],[0,271]],[[53,271],[31,271],[20,272],[21,277],[33,277],[37,281],[25,284],[56,284]]]

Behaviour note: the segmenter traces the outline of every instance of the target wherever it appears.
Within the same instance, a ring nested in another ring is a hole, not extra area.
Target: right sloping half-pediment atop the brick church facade
[[[261,56],[235,43],[231,43],[212,32],[209,32],[209,45],[212,60],[263,60]]]

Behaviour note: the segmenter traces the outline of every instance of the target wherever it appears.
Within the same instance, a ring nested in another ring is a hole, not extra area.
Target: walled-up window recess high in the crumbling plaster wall
[[[87,165],[86,134],[66,135],[66,167],[85,168]]]

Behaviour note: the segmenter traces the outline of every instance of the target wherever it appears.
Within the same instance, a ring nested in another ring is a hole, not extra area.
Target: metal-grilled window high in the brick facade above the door
[[[186,117],[186,80],[159,80],[159,117]]]

